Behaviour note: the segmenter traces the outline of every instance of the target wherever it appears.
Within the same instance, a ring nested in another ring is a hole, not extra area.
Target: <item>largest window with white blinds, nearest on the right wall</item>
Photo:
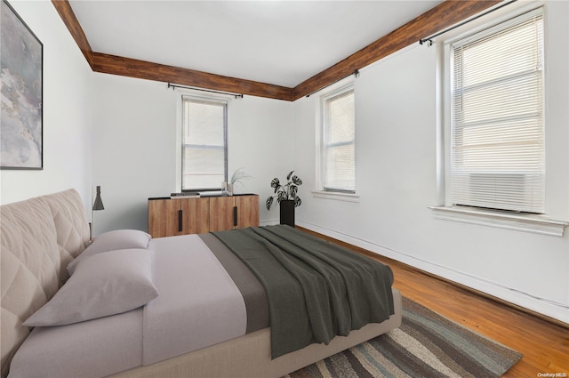
[[[452,44],[453,205],[543,213],[542,12]]]

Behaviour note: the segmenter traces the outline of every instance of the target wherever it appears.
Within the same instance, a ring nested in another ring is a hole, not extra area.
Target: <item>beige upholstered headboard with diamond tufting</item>
[[[67,265],[89,243],[89,225],[74,189],[0,206],[2,377],[30,329],[21,323],[68,278]]]

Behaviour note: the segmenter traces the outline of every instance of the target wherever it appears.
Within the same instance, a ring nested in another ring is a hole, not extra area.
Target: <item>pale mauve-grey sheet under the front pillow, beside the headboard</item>
[[[35,327],[9,378],[97,378],[142,364],[142,309],[68,326]]]

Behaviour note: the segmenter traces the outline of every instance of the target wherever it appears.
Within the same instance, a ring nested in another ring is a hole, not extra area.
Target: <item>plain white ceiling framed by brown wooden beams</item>
[[[442,1],[69,3],[93,52],[294,87]]]

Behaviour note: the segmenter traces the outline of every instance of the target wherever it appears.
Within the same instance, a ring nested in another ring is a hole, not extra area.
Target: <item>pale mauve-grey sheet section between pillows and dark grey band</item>
[[[160,294],[144,308],[143,365],[245,334],[243,296],[200,237],[156,238],[148,249]]]

